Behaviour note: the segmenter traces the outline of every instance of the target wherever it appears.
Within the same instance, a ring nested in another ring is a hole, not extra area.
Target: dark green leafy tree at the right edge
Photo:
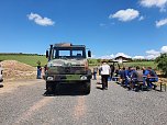
[[[160,56],[155,59],[155,63],[157,63],[158,69],[167,77],[167,53],[160,54]]]

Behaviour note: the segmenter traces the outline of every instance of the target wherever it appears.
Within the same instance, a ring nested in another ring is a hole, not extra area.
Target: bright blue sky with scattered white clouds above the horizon
[[[93,57],[167,53],[167,0],[1,0],[0,53],[85,44]]]

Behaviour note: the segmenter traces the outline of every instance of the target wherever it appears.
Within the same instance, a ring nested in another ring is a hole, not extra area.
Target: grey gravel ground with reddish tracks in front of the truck
[[[14,89],[4,91],[5,84]],[[63,86],[59,95],[45,96],[43,80],[5,82],[0,125],[167,125],[167,92],[127,91],[111,81],[108,90],[100,87],[92,80],[89,95]]]

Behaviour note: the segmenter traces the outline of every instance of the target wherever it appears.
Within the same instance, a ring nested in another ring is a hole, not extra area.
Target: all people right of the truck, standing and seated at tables
[[[93,79],[97,79],[97,72],[101,76],[102,89],[108,89],[108,81],[118,81],[124,88],[129,90],[138,91],[141,88],[155,89],[157,86],[154,82],[158,81],[158,77],[152,67],[123,67],[118,68],[113,65],[109,66],[107,61],[102,61],[102,65],[98,68],[93,68]]]

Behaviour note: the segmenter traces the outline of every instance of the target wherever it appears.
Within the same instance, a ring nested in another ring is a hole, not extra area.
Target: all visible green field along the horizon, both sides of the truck
[[[47,63],[47,58],[44,55],[33,55],[33,54],[0,54],[0,60],[18,60],[20,63],[24,63],[31,65],[33,67],[37,66],[37,61],[41,61],[41,65],[44,66]],[[98,59],[89,59],[90,66],[100,66]],[[131,61],[124,63],[124,67],[152,67],[156,68],[156,64],[154,61]],[[122,67],[122,65],[121,65]]]

